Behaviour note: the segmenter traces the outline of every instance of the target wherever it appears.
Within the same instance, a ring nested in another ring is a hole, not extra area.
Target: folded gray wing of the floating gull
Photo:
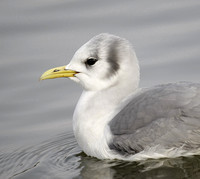
[[[109,147],[134,154],[146,147],[200,148],[200,84],[159,85],[134,97],[109,123]]]

